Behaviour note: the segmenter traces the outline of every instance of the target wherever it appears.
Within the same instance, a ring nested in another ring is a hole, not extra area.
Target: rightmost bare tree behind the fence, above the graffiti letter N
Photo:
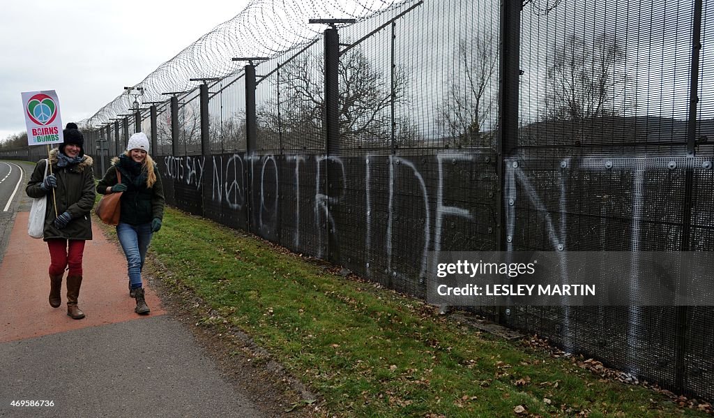
[[[603,34],[588,44],[570,36],[552,53],[545,96],[547,119],[583,121],[622,116],[626,101],[625,51],[614,36]]]

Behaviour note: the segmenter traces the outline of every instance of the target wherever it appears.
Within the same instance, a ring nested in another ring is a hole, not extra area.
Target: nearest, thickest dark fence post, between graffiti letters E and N
[[[511,155],[513,144],[518,140],[518,79],[521,76],[519,56],[521,38],[520,0],[501,0],[501,24],[498,41],[498,138],[496,152],[496,249],[506,251],[506,158]],[[506,307],[498,307],[498,322],[506,322]]]

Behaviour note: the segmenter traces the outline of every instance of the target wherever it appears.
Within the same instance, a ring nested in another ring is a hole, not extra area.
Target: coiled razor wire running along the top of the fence
[[[84,129],[107,124],[121,114],[131,113],[139,104],[166,101],[164,93],[196,89],[199,78],[225,78],[243,71],[236,56],[274,57],[321,36],[326,28],[308,24],[308,19],[356,19],[362,21],[375,14],[415,0],[251,0],[241,13],[219,24],[176,56],[161,64],[145,79],[134,85],[93,116],[80,121]],[[132,94],[133,93],[133,94]]]

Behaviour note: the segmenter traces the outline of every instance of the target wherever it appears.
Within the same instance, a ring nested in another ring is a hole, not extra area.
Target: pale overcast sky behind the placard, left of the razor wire
[[[63,124],[92,116],[248,0],[4,1],[0,141],[25,130],[22,91],[56,90]]]

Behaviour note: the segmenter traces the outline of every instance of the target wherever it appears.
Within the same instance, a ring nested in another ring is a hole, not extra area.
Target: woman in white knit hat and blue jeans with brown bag
[[[136,299],[137,314],[149,314],[141,270],[151,236],[161,229],[164,218],[164,188],[157,171],[149,155],[149,138],[144,132],[137,132],[129,138],[126,152],[111,160],[104,178],[96,185],[100,194],[124,192],[116,235],[126,255],[129,295]]]

